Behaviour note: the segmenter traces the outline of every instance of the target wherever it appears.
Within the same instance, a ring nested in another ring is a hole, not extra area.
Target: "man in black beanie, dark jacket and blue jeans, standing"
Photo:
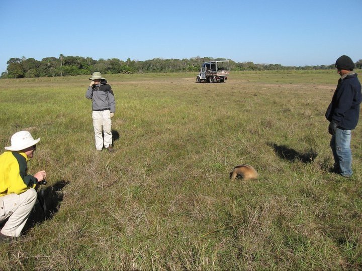
[[[341,76],[325,117],[330,121],[328,131],[332,135],[330,147],[334,158],[333,172],[344,177],[352,175],[351,130],[359,117],[362,101],[361,84],[353,71],[354,63],[348,56],[337,59],[335,66]]]

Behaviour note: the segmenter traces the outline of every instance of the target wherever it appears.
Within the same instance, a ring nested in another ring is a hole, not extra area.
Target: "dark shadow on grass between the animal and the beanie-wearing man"
[[[307,153],[298,153],[296,150],[291,149],[285,145],[277,145],[275,143],[268,143],[267,145],[272,147],[280,158],[288,160],[290,162],[295,162],[296,160],[299,160],[305,164],[311,163],[318,155],[317,152],[315,152],[314,150],[310,150],[310,152]]]

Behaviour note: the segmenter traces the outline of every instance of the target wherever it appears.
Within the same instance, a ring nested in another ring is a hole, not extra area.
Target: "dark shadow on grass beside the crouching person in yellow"
[[[60,203],[63,200],[62,189],[69,182],[61,180],[52,186],[45,185],[38,189],[38,199],[30,213],[29,219],[23,229],[23,232],[34,227],[44,220],[52,218],[58,212]]]

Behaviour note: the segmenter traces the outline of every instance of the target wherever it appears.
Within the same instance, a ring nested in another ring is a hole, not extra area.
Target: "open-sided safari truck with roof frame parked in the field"
[[[230,74],[229,60],[204,62],[201,66],[196,82],[207,81],[210,83],[225,82]]]

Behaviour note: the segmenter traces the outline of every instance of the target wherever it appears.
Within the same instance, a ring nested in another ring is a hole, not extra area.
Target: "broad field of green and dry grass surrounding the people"
[[[360,71],[359,71],[360,72]],[[115,153],[96,153],[88,76],[0,80],[0,145],[41,138],[50,217],[0,245],[0,269],[362,269],[362,132],[331,174],[336,71],[105,75]],[[229,179],[238,164],[258,180]]]

